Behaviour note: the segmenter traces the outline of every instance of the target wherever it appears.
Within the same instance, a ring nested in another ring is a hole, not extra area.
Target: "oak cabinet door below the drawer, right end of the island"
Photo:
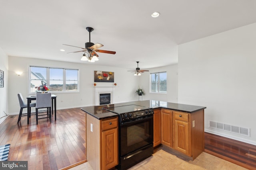
[[[189,155],[189,123],[175,119],[174,149]]]

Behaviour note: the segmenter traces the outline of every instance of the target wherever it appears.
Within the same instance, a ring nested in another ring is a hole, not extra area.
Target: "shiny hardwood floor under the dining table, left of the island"
[[[57,120],[9,115],[0,124],[0,145],[11,144],[8,160],[27,160],[29,170],[58,170],[86,162],[86,114],[80,108],[57,110]]]

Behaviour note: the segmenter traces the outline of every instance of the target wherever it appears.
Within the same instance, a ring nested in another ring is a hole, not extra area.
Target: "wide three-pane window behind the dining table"
[[[30,66],[30,92],[36,92],[41,81],[51,92],[78,92],[76,69]]]

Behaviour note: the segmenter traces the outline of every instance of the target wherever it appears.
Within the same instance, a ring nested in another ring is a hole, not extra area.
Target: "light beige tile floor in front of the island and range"
[[[88,162],[70,170],[93,170]],[[241,166],[202,152],[195,160],[188,162],[162,149],[152,156],[136,164],[129,170],[246,170]]]

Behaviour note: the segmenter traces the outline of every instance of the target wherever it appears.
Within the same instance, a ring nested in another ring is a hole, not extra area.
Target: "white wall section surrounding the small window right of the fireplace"
[[[178,103],[178,64],[146,70],[149,70],[149,72],[143,72],[141,73],[141,76],[138,76],[140,77],[140,88],[146,92],[146,94],[142,96],[143,100],[159,100],[163,102]],[[150,93],[150,73],[165,71],[167,74],[167,94]]]

